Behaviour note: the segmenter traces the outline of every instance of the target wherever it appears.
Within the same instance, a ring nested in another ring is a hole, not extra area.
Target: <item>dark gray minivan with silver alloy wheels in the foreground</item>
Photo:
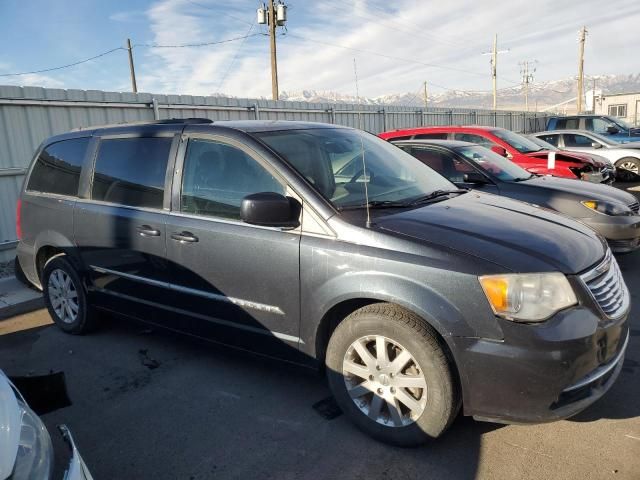
[[[324,366],[389,443],[438,437],[460,408],[565,418],[622,367],[630,295],[600,236],[358,130],[74,131],[38,149],[18,208],[20,265],[62,330],[103,310]]]

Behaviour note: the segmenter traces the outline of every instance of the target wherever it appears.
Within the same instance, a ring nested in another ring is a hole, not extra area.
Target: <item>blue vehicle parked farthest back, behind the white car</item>
[[[621,118],[608,115],[549,117],[547,130],[587,130],[606,136],[614,142],[640,140],[640,128],[632,127]]]

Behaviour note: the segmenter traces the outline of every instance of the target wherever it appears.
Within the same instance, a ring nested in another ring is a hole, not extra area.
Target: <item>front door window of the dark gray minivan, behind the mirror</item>
[[[181,211],[240,220],[242,199],[252,193],[285,189],[242,150],[224,143],[191,139],[182,175]]]

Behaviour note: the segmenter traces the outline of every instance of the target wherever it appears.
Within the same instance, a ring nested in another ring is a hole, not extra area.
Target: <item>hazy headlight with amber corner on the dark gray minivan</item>
[[[496,315],[519,322],[541,322],[578,301],[559,272],[485,275],[480,285]]]

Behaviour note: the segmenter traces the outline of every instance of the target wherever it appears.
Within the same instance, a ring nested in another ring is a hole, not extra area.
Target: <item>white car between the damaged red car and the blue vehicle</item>
[[[584,130],[558,130],[534,135],[564,150],[596,153],[609,159],[618,170],[640,174],[640,142],[618,143],[608,137]]]

